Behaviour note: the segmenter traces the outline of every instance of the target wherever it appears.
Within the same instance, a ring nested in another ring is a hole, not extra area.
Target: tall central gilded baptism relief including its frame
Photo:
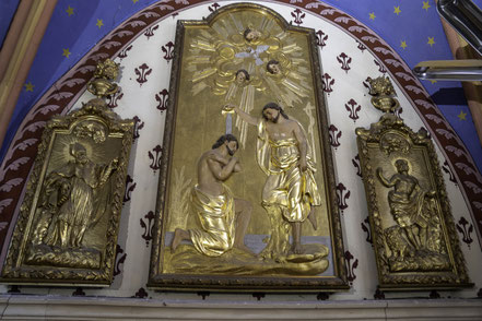
[[[150,287],[348,288],[314,39],[256,4],[178,23]]]

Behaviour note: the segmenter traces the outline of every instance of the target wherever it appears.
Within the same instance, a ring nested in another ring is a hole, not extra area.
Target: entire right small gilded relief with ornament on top
[[[381,290],[471,287],[434,145],[413,132],[388,78],[369,79],[372,104],[384,111],[357,128],[362,176]]]

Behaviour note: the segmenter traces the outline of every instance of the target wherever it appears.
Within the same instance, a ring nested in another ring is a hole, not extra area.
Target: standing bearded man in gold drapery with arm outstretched
[[[302,126],[290,119],[275,103],[267,104],[260,118],[233,105],[225,108],[234,108],[244,121],[258,128],[257,160],[268,176],[261,204],[269,214],[273,229],[263,255],[283,260],[289,253],[302,254],[302,223],[308,218],[317,229],[315,206],[321,204],[314,177],[315,168]],[[291,226],[293,243],[287,251],[289,235],[282,227],[282,222],[277,221],[287,222]]]

